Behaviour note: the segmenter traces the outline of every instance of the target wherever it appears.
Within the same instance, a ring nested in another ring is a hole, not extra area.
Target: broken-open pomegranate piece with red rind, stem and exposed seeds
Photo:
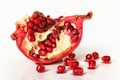
[[[53,19],[35,11],[16,22],[11,38],[20,51],[35,63],[54,63],[77,48],[82,38],[83,21],[91,17],[92,12]]]

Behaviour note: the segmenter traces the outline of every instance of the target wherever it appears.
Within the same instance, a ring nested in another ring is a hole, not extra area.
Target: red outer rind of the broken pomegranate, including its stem
[[[16,41],[17,47],[30,60],[34,61],[35,63],[51,64],[51,63],[54,63],[54,62],[57,62],[57,61],[61,60],[65,56],[69,55],[70,53],[72,53],[78,47],[78,45],[80,44],[80,41],[82,39],[82,34],[83,34],[83,21],[87,20],[87,19],[91,19],[91,17],[92,17],[92,12],[89,12],[87,15],[73,15],[73,16],[62,17],[62,18],[59,18],[59,19],[58,18],[54,19],[55,24],[52,24],[52,26],[61,25],[63,22],[66,22],[66,21],[69,21],[71,24],[75,25],[76,29],[79,31],[79,33],[76,32],[76,33],[79,34],[79,37],[70,35],[70,37],[71,37],[71,39],[69,40],[70,43],[71,43],[70,46],[63,51],[58,52],[57,55],[52,56],[50,58],[48,58],[48,57],[41,58],[41,56],[40,56],[40,58],[38,58],[38,57],[34,58],[34,57],[31,57],[29,55],[29,52],[30,52],[30,50],[28,49],[29,43],[26,40],[26,36],[27,36],[28,33],[25,31],[25,25],[22,24],[21,21],[16,22],[16,30],[11,35],[11,38]],[[26,18],[24,19],[25,23],[27,23],[26,22],[27,19]],[[37,23],[39,23],[37,20],[34,20],[34,22],[35,22],[35,25]],[[50,21],[49,21],[49,24],[50,24]],[[29,25],[33,26],[30,23],[29,23]],[[48,29],[49,28],[46,28],[45,30],[48,30]],[[72,28],[70,30],[72,30]],[[57,31],[57,34],[61,34],[59,29],[57,30],[57,28],[56,28],[56,31]],[[37,31],[37,32],[41,33],[41,32],[44,32],[44,30],[39,29],[39,31]],[[35,34],[35,32],[32,32],[32,33]],[[72,34],[75,34],[75,33],[73,32]],[[56,35],[56,34],[54,34],[54,35]],[[56,36],[54,36],[54,37],[56,38]],[[53,41],[53,42],[55,42],[55,41]],[[58,44],[56,44],[56,45],[58,45]],[[54,50],[52,50],[52,51],[54,51]],[[51,55],[51,53],[49,55]]]

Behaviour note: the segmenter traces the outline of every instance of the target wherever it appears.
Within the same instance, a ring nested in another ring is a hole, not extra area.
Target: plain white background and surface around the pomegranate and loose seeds
[[[120,9],[119,0],[4,0],[0,1],[0,80],[120,80]],[[37,73],[35,64],[16,47],[10,35],[15,21],[38,10],[45,15],[86,14],[93,12],[91,20],[84,22],[83,38],[74,51],[85,75],[73,76],[72,71],[56,74],[58,64],[47,65],[48,71]],[[110,55],[111,64],[98,60],[97,69],[88,70],[83,61],[87,53]]]

